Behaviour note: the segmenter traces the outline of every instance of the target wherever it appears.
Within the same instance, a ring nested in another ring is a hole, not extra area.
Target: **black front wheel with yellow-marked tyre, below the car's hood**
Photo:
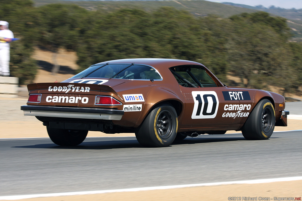
[[[275,110],[268,99],[261,100],[243,126],[242,134],[247,140],[267,140],[275,128]]]

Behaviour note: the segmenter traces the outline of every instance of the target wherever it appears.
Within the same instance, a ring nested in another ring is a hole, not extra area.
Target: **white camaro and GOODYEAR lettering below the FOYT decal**
[[[224,105],[224,110],[229,110],[229,111],[236,111],[237,112],[224,112],[222,114],[222,117],[232,117],[232,118],[236,118],[236,117],[248,117],[249,116],[249,112],[242,112],[243,110],[250,110],[251,109],[251,105],[250,104],[235,104],[235,105]]]

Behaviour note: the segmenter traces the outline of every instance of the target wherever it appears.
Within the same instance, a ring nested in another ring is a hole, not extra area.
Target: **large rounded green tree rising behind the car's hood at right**
[[[288,29],[285,27],[284,33],[276,30],[275,27],[283,27],[282,20],[280,26],[277,22],[274,26],[268,26],[266,17],[259,12],[230,18],[232,30],[227,44],[228,63],[242,83],[246,82],[245,87],[262,89],[274,84],[274,74],[288,68],[290,56],[284,39]]]

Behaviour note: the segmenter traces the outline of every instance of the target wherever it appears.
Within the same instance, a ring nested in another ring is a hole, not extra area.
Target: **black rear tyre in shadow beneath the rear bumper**
[[[50,128],[47,126],[47,133],[53,143],[60,146],[76,146],[81,144],[88,133],[88,130],[68,130]]]

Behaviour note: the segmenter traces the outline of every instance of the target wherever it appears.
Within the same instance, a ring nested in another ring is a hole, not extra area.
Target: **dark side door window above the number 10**
[[[200,66],[179,66],[170,68],[177,82],[185,87],[215,87],[212,77]]]

